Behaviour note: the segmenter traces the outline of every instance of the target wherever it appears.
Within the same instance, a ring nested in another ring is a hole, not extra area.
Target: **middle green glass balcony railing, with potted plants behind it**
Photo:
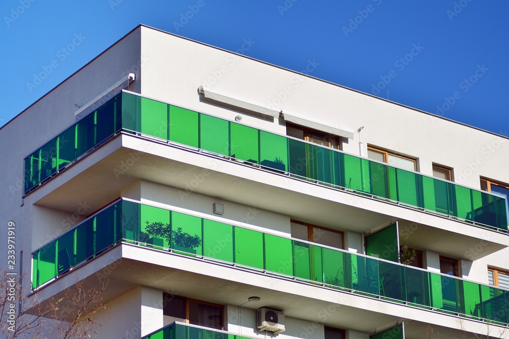
[[[509,323],[509,290],[120,200],[33,253],[34,289],[121,242]]]

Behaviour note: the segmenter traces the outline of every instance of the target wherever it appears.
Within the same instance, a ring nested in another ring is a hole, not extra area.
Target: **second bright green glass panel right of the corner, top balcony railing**
[[[198,113],[169,106],[169,140],[198,147]]]

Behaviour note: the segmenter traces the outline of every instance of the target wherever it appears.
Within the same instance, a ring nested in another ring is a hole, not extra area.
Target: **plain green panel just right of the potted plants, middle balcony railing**
[[[212,220],[203,220],[203,255],[234,262],[233,226]]]

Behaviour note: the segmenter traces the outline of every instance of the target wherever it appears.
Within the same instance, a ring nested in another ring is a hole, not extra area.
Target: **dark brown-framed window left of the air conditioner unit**
[[[223,306],[163,293],[163,316],[166,324],[181,321],[222,330]]]

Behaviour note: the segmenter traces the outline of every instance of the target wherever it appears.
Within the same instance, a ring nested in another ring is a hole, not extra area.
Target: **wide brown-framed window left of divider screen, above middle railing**
[[[343,249],[343,232],[331,230],[312,224],[292,220],[290,223],[292,237],[312,241],[321,245]]]

